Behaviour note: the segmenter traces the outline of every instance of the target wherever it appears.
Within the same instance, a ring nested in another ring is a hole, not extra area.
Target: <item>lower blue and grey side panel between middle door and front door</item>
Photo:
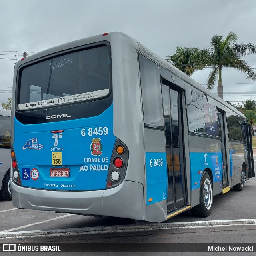
[[[234,186],[241,181],[241,171],[244,159],[244,143],[229,142],[230,147],[230,186]]]

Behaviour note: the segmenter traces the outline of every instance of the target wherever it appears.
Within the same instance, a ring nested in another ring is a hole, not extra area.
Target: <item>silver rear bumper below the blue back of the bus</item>
[[[52,191],[18,186],[11,179],[12,205],[18,208],[144,219],[143,185],[124,181],[95,191]]]

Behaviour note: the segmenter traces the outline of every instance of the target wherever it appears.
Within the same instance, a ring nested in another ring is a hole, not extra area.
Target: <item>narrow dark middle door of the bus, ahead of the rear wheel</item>
[[[218,121],[220,129],[220,141],[221,141],[221,158],[222,158],[222,188],[228,186],[228,168],[227,168],[227,150],[226,150],[226,137],[225,137],[225,117],[224,112],[218,111]]]

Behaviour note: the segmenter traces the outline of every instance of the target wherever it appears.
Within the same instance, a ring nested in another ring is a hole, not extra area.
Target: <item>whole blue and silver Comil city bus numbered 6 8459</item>
[[[14,207],[163,222],[255,176],[245,116],[121,32],[20,60],[12,99]]]

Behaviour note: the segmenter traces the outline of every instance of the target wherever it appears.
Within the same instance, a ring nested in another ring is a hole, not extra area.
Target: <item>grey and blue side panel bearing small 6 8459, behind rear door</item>
[[[162,222],[167,219],[165,132],[145,128],[144,145],[146,165],[146,221]]]

